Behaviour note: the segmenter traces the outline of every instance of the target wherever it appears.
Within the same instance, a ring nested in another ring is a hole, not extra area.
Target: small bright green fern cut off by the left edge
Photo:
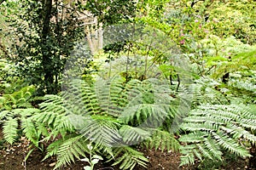
[[[21,88],[14,94],[3,94],[0,98],[0,120],[3,122],[3,137],[9,143],[13,144],[17,138],[18,131],[21,129],[26,133],[26,137],[36,143],[39,138],[34,129],[30,117],[38,113],[38,109],[32,108],[30,100],[35,88],[32,86]],[[37,139],[34,139],[37,138]]]

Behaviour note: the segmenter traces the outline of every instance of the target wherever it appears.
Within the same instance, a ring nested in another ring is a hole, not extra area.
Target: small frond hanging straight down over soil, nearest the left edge
[[[18,122],[17,119],[9,116],[3,122],[3,138],[9,143],[13,144],[17,137]]]

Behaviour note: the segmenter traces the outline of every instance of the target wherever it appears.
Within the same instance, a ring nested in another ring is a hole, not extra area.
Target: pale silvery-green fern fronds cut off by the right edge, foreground
[[[221,161],[224,150],[236,156],[250,156],[247,145],[256,142],[252,133],[255,121],[255,111],[245,105],[199,106],[180,126],[188,132],[179,139],[185,144],[181,148],[181,165],[194,163],[195,158]]]

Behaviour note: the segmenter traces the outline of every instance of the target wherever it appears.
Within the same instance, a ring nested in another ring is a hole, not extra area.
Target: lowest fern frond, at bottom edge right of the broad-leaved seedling
[[[120,169],[132,170],[136,165],[147,167],[148,159],[143,156],[143,153],[133,150],[131,147],[121,147],[114,149],[114,157],[118,157],[114,165],[119,165]]]

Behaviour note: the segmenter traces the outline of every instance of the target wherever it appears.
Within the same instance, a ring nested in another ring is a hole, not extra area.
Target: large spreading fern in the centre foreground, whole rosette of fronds
[[[159,129],[151,136],[154,127],[171,121],[165,117],[173,118],[176,114],[171,110],[175,106],[170,103],[172,97],[166,94],[170,89],[160,81],[125,83],[124,79],[113,77],[99,79],[92,85],[74,81],[67,87],[61,96],[47,95],[40,105],[41,113],[33,116],[38,129],[44,127],[50,132],[45,139],[61,134],[62,139],[49,145],[45,157],[57,156],[55,168],[84,153],[90,154],[84,149],[89,143],[96,152],[103,150],[102,156],[112,157],[111,160],[118,156],[113,165],[120,163],[121,169],[132,169],[137,164],[145,167],[147,162],[142,153],[125,145],[146,140],[150,147],[161,145],[162,150],[178,150],[172,134]],[[148,131],[147,126],[152,130]],[[69,135],[75,134],[74,130],[81,135]]]

